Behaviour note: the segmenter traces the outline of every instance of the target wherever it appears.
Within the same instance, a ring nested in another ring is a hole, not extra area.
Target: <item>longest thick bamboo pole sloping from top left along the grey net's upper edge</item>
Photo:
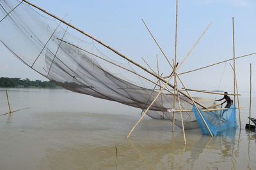
[[[147,73],[152,74],[152,76],[155,76],[156,78],[159,78],[159,79],[160,79],[161,81],[163,81],[164,83],[167,82],[167,81],[164,80],[161,76],[159,76],[159,75],[157,75],[157,74],[155,74],[155,73],[149,71],[148,69],[146,69],[146,68],[143,67],[143,66],[140,66],[140,64],[138,64],[137,62],[134,62],[133,60],[129,59],[128,57],[126,57],[126,56],[123,55],[122,53],[120,53],[120,52],[116,51],[115,49],[111,48],[111,46],[108,46],[108,45],[106,45],[105,43],[103,43],[102,41],[100,41],[99,39],[94,38],[94,37],[91,36],[90,34],[84,32],[84,31],[81,31],[81,29],[78,29],[77,27],[74,27],[74,25],[68,24],[68,22],[65,22],[64,20],[61,20],[60,18],[58,18],[58,17],[52,15],[51,13],[49,13],[49,12],[43,10],[42,8],[36,6],[35,4],[31,4],[31,3],[29,3],[29,2],[26,1],[26,0],[22,0],[22,1],[24,1],[25,3],[28,3],[29,5],[31,5],[31,6],[33,6],[33,7],[35,7],[35,8],[37,8],[37,9],[40,10],[40,11],[46,13],[47,15],[50,15],[50,16],[53,17],[53,18],[56,18],[57,20],[60,20],[61,22],[63,22],[63,24],[66,24],[66,25],[68,25],[69,27],[72,27],[72,29],[75,29],[76,31],[81,32],[81,33],[84,34],[85,36],[88,36],[89,38],[91,38],[91,39],[97,41],[97,43],[100,43],[100,45],[105,46],[106,48],[108,48],[109,50],[113,51],[114,53],[116,53],[116,54],[119,55],[120,57],[124,58],[125,60],[128,60],[128,61],[131,62],[132,64],[134,64],[134,65],[140,67],[141,69],[143,69],[143,70],[146,71]],[[165,55],[165,54],[164,54],[164,55]],[[169,61],[169,62],[170,62],[170,61]],[[172,64],[170,64],[170,66],[172,66]],[[172,68],[173,68],[173,67],[172,67]],[[167,84],[168,84],[170,87],[174,88],[174,86],[173,86],[171,83],[168,82]],[[180,91],[180,90],[178,90],[178,91],[180,92],[180,94],[183,94],[184,96],[188,97],[188,99],[189,99],[189,96],[186,95],[184,92],[182,92],[182,91]],[[199,103],[199,102],[196,101],[196,100],[195,100],[195,103],[198,104],[199,106],[202,106],[203,108],[207,108],[206,106],[204,106],[203,104]]]

